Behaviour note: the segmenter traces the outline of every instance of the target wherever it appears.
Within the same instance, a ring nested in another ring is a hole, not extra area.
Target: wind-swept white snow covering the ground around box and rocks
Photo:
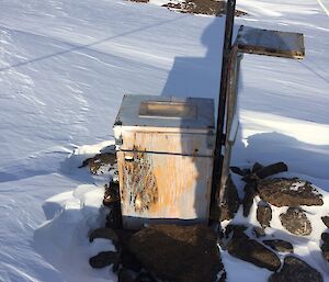
[[[90,256],[113,248],[87,238],[104,221],[99,207],[105,180],[76,167],[81,156],[111,144],[125,93],[217,101],[224,18],[124,0],[0,2],[0,280],[115,281],[110,269],[88,264]],[[285,161],[292,176],[329,191],[324,7],[328,0],[238,1],[249,15],[237,26],[302,32],[306,58],[245,56],[232,161]],[[300,248],[307,253],[318,247]],[[223,256],[229,282],[270,274]],[[329,281],[328,264],[309,262]]]

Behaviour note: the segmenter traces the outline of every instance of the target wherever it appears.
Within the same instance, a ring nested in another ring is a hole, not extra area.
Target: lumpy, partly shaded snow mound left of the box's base
[[[33,247],[60,269],[66,280],[70,277],[80,281],[104,281],[106,277],[115,280],[110,267],[99,273],[89,266],[89,258],[100,251],[115,250],[111,240],[90,242],[88,238],[90,230],[105,223],[106,211],[100,208],[103,194],[103,188],[82,184],[73,192],[48,199],[43,205],[48,221],[35,230]]]

